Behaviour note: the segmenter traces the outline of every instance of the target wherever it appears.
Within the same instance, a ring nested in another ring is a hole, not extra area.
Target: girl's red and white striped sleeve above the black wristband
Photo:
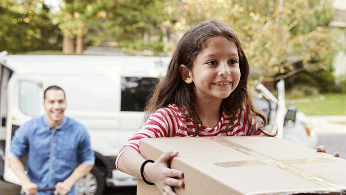
[[[116,160],[118,168],[118,159],[124,151],[135,149],[139,152],[139,140],[143,138],[173,137],[176,123],[176,112],[170,108],[161,108],[153,113],[144,125],[130,138],[130,140],[121,148]]]

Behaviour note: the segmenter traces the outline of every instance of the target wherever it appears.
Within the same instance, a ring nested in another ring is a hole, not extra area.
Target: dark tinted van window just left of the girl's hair
[[[121,111],[144,111],[158,78],[122,77],[121,78]]]

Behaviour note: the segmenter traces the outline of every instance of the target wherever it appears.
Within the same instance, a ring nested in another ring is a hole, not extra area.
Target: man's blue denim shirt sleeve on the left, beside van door
[[[13,159],[20,159],[22,158],[25,153],[28,152],[29,148],[29,126],[30,121],[20,126],[15,132],[14,136],[11,140],[11,146],[10,146],[10,155],[8,158]]]

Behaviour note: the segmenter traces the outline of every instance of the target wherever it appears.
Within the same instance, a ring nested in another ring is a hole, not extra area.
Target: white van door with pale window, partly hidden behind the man
[[[6,146],[5,159],[9,153],[11,139],[19,126],[35,116],[42,115],[43,91],[46,79],[37,76],[18,76],[13,74],[7,87],[7,120],[6,120]],[[26,157],[21,159],[26,165]],[[4,180],[20,185],[20,180],[4,163]]]

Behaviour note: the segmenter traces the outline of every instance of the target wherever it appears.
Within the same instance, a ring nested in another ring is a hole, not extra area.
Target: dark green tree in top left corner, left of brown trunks
[[[42,0],[0,1],[0,51],[58,49],[59,29]]]

